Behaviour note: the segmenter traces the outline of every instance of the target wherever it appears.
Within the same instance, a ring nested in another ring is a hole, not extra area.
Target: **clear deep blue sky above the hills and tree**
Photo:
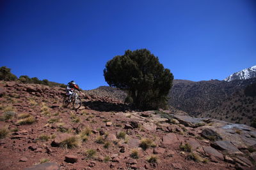
[[[255,0],[0,1],[0,66],[82,89],[147,48],[175,79],[223,80],[256,65]]]

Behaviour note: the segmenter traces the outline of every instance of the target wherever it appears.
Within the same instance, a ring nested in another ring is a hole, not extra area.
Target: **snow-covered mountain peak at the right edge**
[[[252,66],[247,69],[243,69],[242,71],[238,71],[227,78],[225,78],[225,81],[232,81],[232,80],[246,80],[249,78],[256,77],[256,66]]]

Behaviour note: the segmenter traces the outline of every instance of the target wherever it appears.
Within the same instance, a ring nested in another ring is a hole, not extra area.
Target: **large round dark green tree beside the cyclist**
[[[104,77],[111,87],[128,90],[128,96],[142,110],[167,106],[173,74],[147,49],[127,50],[109,60]]]

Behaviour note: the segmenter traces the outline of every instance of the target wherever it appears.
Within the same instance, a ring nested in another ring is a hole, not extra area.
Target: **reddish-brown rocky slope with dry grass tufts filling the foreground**
[[[0,169],[255,169],[256,131],[179,110],[132,111],[60,87],[0,81]]]

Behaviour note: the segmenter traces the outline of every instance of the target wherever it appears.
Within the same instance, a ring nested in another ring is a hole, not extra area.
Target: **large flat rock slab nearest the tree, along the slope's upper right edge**
[[[200,127],[205,125],[205,122],[202,122],[201,118],[193,118],[186,115],[174,115],[174,118],[176,118],[180,124],[183,124],[185,126],[189,127]]]

